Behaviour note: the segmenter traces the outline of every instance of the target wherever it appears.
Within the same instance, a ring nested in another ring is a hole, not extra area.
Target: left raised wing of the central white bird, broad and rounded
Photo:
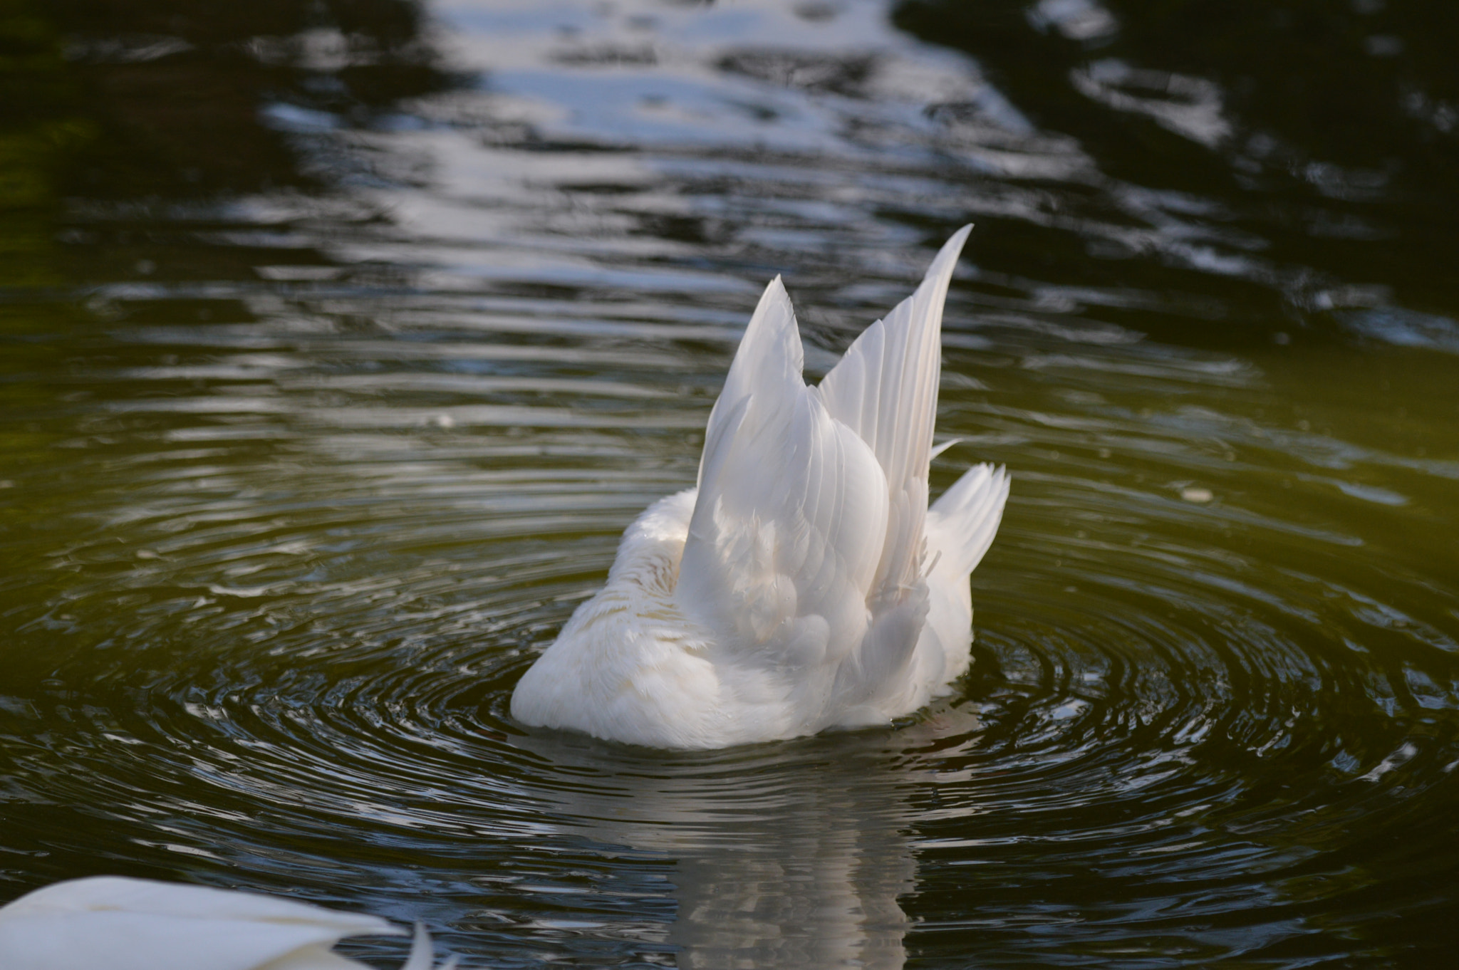
[[[805,387],[795,314],[776,277],[750,319],[705,432],[676,600],[731,664],[826,677],[862,639],[887,521],[871,448]],[[785,697],[766,700],[783,700]],[[820,705],[792,705],[814,716]]]

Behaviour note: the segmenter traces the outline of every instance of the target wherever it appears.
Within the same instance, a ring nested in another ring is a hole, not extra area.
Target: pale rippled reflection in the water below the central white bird
[[[916,887],[919,757],[976,718],[941,707],[896,731],[830,734],[696,756],[568,734],[514,742],[557,769],[541,792],[563,834],[674,861],[678,966],[874,967],[906,961]],[[945,754],[945,753],[944,753]]]

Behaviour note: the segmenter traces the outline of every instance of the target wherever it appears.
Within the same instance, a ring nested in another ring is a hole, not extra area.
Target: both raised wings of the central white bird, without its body
[[[766,700],[808,729],[881,719],[926,617],[943,300],[969,229],[818,388],[776,277],[709,416],[677,600],[728,659],[781,674]]]

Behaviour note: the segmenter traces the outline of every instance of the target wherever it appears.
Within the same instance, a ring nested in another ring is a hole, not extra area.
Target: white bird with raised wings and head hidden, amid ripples
[[[928,508],[943,302],[960,229],[818,387],[781,279],[709,414],[699,486],[629,527],[607,586],[512,694],[512,716],[718,748],[887,723],[967,670],[969,573],[1008,480],[978,465]]]

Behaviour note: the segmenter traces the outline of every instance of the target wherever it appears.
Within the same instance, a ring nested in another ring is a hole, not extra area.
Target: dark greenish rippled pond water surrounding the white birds
[[[1447,955],[1447,9],[10,10],[0,900],[283,893],[481,967]],[[818,375],[969,220],[934,490],[1014,490],[956,693],[512,722],[760,287]]]

